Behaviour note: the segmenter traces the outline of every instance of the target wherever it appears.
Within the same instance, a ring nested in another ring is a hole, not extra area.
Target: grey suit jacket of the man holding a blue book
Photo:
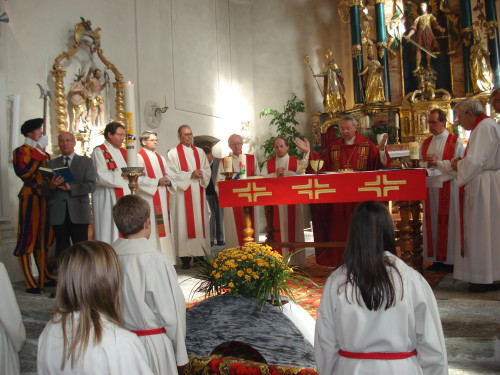
[[[49,168],[60,168],[64,166],[62,156],[47,163]],[[50,225],[64,223],[66,207],[69,218],[73,224],[90,224],[90,198],[89,194],[94,192],[96,183],[96,172],[92,160],[86,156],[76,155],[69,167],[75,177],[75,182],[70,183],[71,190],[50,190],[47,180],[43,184],[43,195],[48,200]]]

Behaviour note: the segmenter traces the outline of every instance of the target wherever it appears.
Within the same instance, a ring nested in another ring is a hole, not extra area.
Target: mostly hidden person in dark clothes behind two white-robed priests
[[[212,177],[210,178],[210,184],[208,184],[207,189],[207,202],[210,207],[210,245],[214,245],[214,240],[217,240],[217,245],[225,245],[224,242],[224,230],[223,218],[224,211],[219,208],[219,198],[217,196],[217,190],[215,189],[215,181],[217,181],[217,173],[219,173],[220,158],[215,158],[212,155],[212,149],[208,146],[202,147],[203,151],[207,155],[208,162],[210,163],[210,169],[212,170]]]

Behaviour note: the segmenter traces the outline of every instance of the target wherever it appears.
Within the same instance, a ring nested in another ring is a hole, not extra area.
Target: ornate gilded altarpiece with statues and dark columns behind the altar
[[[317,150],[339,136],[340,118],[351,115],[358,131],[375,143],[377,133],[388,133],[393,167],[418,166],[418,157],[409,158],[410,146],[431,135],[430,110],[447,113],[448,130],[464,143],[467,134],[454,119],[458,102],[476,98],[493,115],[489,94],[500,86],[494,0],[337,3],[341,27],[351,34],[352,72],[341,72],[336,65],[333,42],[325,46],[324,69],[313,72],[315,79],[323,79],[318,88],[324,98],[323,113],[311,115]],[[309,57],[304,61],[309,64]],[[345,107],[344,80],[352,80],[352,108]],[[422,270],[421,202],[398,204],[402,258]]]

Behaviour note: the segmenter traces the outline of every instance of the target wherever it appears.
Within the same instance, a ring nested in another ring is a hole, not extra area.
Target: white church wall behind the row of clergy
[[[53,92],[47,70],[71,47],[80,16],[91,20],[94,29],[101,28],[104,56],[125,81],[135,83],[141,131],[147,129],[146,102],[163,106],[167,97],[170,109],[156,129],[162,154],[177,144],[176,130],[185,123],[195,135],[222,139],[214,153],[226,154],[227,136],[240,132],[242,121],[250,121],[248,148],[259,154],[269,131],[269,118],[258,118],[262,109],[281,110],[292,92],[305,101],[308,113],[322,109],[321,94],[303,62],[306,54],[318,73],[324,52],[331,48],[350,91],[349,28],[340,24],[331,0],[23,0],[1,2],[3,11],[10,22],[0,23],[0,74],[5,82],[0,100],[4,105],[8,95],[20,95],[21,122],[41,117],[36,83]],[[68,82],[72,73],[65,78]],[[0,134],[6,135],[8,116],[2,113]],[[53,104],[49,117],[55,136]],[[310,134],[308,115],[300,121],[300,131]],[[0,216],[15,228],[21,181],[9,161],[9,147],[0,153]],[[10,251],[0,243],[0,256]]]

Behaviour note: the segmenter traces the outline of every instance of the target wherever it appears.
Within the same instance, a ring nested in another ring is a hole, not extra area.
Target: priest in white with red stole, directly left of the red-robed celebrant
[[[273,143],[275,156],[267,160],[262,166],[262,177],[285,177],[296,176],[305,169],[300,160],[288,154],[287,141],[282,137],[276,137]],[[307,154],[304,160],[307,160]],[[306,165],[307,167],[307,165]],[[279,226],[279,236],[276,234],[276,242],[304,242],[304,205],[280,205],[274,207],[273,226],[275,231]],[[295,249],[292,249],[295,251]],[[283,256],[289,253],[287,247],[281,249]],[[305,264],[306,253],[304,249],[300,250],[290,259],[290,264]]]

